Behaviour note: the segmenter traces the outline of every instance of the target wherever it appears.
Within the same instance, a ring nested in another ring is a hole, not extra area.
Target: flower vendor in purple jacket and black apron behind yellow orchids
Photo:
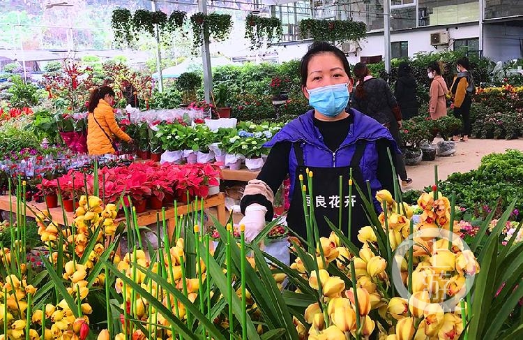
[[[248,183],[241,199],[245,216],[245,237],[252,241],[273,218],[274,193],[287,177],[291,181],[287,224],[296,235],[307,238],[300,175],[307,183],[306,169],[312,171],[314,207],[319,234],[328,236],[331,228],[325,221],[338,223],[342,205],[342,230],[347,230],[348,207],[352,205],[352,242],[360,244],[358,230],[368,221],[361,197],[353,187],[349,198],[349,169],[354,182],[367,193],[370,183],[372,197],[380,189],[393,190],[393,169],[388,159],[397,149],[391,133],[374,119],[354,109],[347,109],[353,80],[347,58],[341,50],[325,42],[313,43],[301,59],[301,87],[313,110],[290,121],[276,133],[265,147],[271,147],[257,179]],[[339,177],[343,177],[340,197]],[[366,196],[365,196],[366,197]],[[381,211],[379,202],[374,206]]]

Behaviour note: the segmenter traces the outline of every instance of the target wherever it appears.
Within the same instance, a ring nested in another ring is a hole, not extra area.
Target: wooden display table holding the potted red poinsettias
[[[13,212],[16,212],[16,197],[13,196],[12,200],[13,200],[13,205],[12,205]],[[28,207],[26,209],[26,215],[31,216],[31,217],[36,217],[35,214],[33,214],[33,212],[38,214],[39,212],[47,209],[47,207],[45,206],[45,203],[27,202],[26,205]],[[29,207],[33,210],[33,212],[31,212],[31,209],[29,209]],[[216,195],[212,195],[212,196],[209,196],[208,198],[206,198],[204,200],[204,208],[210,208],[210,207],[216,207],[218,221],[220,221],[220,223],[225,226],[225,224],[227,223],[227,219],[229,217],[229,216],[227,216],[227,212],[225,212],[225,194],[218,193]],[[0,210],[6,210],[8,212],[9,209],[10,209],[9,196],[0,195]],[[197,203],[197,210],[199,210],[199,209],[201,209],[200,202]],[[52,208],[52,209],[49,209],[49,211],[51,213],[52,220],[62,226],[72,223],[75,219],[75,217],[74,217],[75,214],[73,212],[66,212],[66,223],[64,223],[63,212],[62,212],[61,207]],[[194,202],[190,207],[188,205],[178,205],[178,207],[177,207],[178,216],[185,215],[189,211],[194,211]],[[22,208],[22,212],[23,212],[23,208]],[[158,210],[147,210],[146,212],[137,214],[138,225],[139,226],[149,226],[151,224],[156,223],[156,212],[158,212]],[[160,210],[160,212],[161,212],[161,210]],[[169,207],[169,209],[165,209],[165,219],[167,220],[169,237],[170,237],[170,235],[172,235],[172,232],[174,232],[174,228],[176,227],[175,217],[176,216],[174,214],[174,207]],[[162,218],[162,216],[160,216],[160,219],[161,218]],[[123,217],[117,218],[115,221],[116,221],[116,223],[119,223],[121,221],[125,221],[125,219],[126,219],[125,216],[123,216]]]

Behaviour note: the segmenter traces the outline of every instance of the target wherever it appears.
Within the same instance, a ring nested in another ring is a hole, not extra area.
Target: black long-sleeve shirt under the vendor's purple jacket
[[[320,121],[314,118],[314,126],[319,129],[319,132],[324,138],[325,145],[335,151],[340,147],[342,142],[347,138],[349,128],[353,124],[354,117],[349,117],[339,121]],[[267,156],[264,167],[261,168],[257,179],[264,181],[276,193],[284,179],[289,175],[289,153],[291,151],[291,142],[276,143]],[[381,183],[383,189],[388,191],[394,190],[394,179],[392,172],[392,165],[388,159],[387,148],[393,152],[393,146],[389,140],[377,140],[376,148],[378,152],[378,173],[377,179]],[[393,159],[395,159],[393,157]],[[242,198],[240,207],[241,211],[245,212],[245,207],[252,203],[259,203],[267,208],[266,219],[270,221],[273,216],[273,206],[264,195],[246,195]]]

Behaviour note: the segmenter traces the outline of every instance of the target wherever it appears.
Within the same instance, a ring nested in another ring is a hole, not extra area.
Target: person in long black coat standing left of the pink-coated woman
[[[418,115],[418,96],[416,95],[416,79],[412,75],[411,66],[402,61],[397,68],[397,82],[394,96],[402,111],[403,119],[410,119]]]

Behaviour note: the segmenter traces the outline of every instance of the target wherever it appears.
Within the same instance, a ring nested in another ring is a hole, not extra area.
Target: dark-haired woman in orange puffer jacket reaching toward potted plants
[[[114,119],[112,105],[114,91],[103,86],[95,89],[89,99],[87,117],[87,149],[91,155],[114,154],[114,138],[132,142],[129,135],[121,130]]]

